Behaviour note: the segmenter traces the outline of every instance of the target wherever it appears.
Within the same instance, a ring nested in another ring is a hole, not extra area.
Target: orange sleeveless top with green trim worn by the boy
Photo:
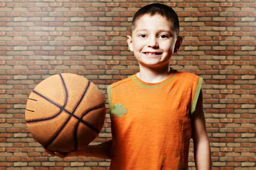
[[[110,169],[188,169],[190,117],[202,82],[193,73],[172,69],[159,83],[134,74],[108,86]]]

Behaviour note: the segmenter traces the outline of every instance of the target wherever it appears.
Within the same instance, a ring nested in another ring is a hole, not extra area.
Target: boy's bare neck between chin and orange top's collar
[[[148,68],[139,65],[137,76],[140,80],[148,83],[158,83],[165,80],[170,75],[170,66],[166,65],[161,68]]]

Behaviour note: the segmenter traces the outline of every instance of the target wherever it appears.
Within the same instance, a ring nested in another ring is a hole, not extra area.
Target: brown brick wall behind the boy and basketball
[[[48,157],[26,127],[26,99],[53,74],[84,75],[105,93],[107,84],[138,71],[125,40],[133,13],[150,2],[0,1],[0,169],[109,167],[103,159]],[[184,37],[171,66],[204,78],[213,169],[254,169],[255,2],[158,2],[177,11]],[[107,139],[109,115],[93,144]]]

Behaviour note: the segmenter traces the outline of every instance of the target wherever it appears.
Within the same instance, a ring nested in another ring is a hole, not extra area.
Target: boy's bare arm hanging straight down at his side
[[[192,116],[191,125],[196,169],[211,169],[211,148],[205,126],[202,90],[200,90],[196,110]]]

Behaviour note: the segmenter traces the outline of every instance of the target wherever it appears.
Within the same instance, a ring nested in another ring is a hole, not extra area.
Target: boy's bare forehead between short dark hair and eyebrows
[[[145,28],[173,30],[172,23],[166,17],[160,15],[151,16],[149,14],[143,15],[137,19],[134,30]]]

